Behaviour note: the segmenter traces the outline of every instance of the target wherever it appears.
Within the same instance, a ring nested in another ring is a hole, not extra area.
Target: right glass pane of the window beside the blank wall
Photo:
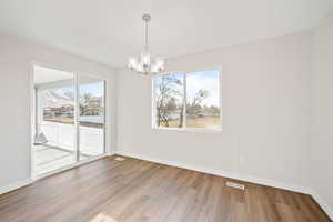
[[[220,70],[186,74],[186,127],[221,129]]]

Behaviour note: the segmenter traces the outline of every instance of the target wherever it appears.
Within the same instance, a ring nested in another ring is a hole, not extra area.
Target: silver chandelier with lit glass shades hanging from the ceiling
[[[142,20],[144,22],[144,51],[139,58],[129,58],[129,69],[141,74],[157,74],[164,70],[164,60],[162,58],[151,58],[148,50],[148,23],[151,20],[150,14],[143,14]]]

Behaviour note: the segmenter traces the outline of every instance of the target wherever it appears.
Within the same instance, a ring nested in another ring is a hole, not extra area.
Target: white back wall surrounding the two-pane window
[[[222,133],[151,129],[151,81],[118,77],[118,151],[302,190],[309,161],[312,33],[189,54],[169,71],[222,67]],[[263,179],[263,180],[261,180]]]

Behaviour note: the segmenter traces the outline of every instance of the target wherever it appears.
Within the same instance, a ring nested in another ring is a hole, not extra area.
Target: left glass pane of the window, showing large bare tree
[[[154,79],[155,124],[164,128],[183,125],[183,74],[163,74]]]

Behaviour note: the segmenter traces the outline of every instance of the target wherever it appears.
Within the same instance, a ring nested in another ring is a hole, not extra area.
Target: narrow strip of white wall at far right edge
[[[333,11],[313,38],[311,186],[333,219]]]

